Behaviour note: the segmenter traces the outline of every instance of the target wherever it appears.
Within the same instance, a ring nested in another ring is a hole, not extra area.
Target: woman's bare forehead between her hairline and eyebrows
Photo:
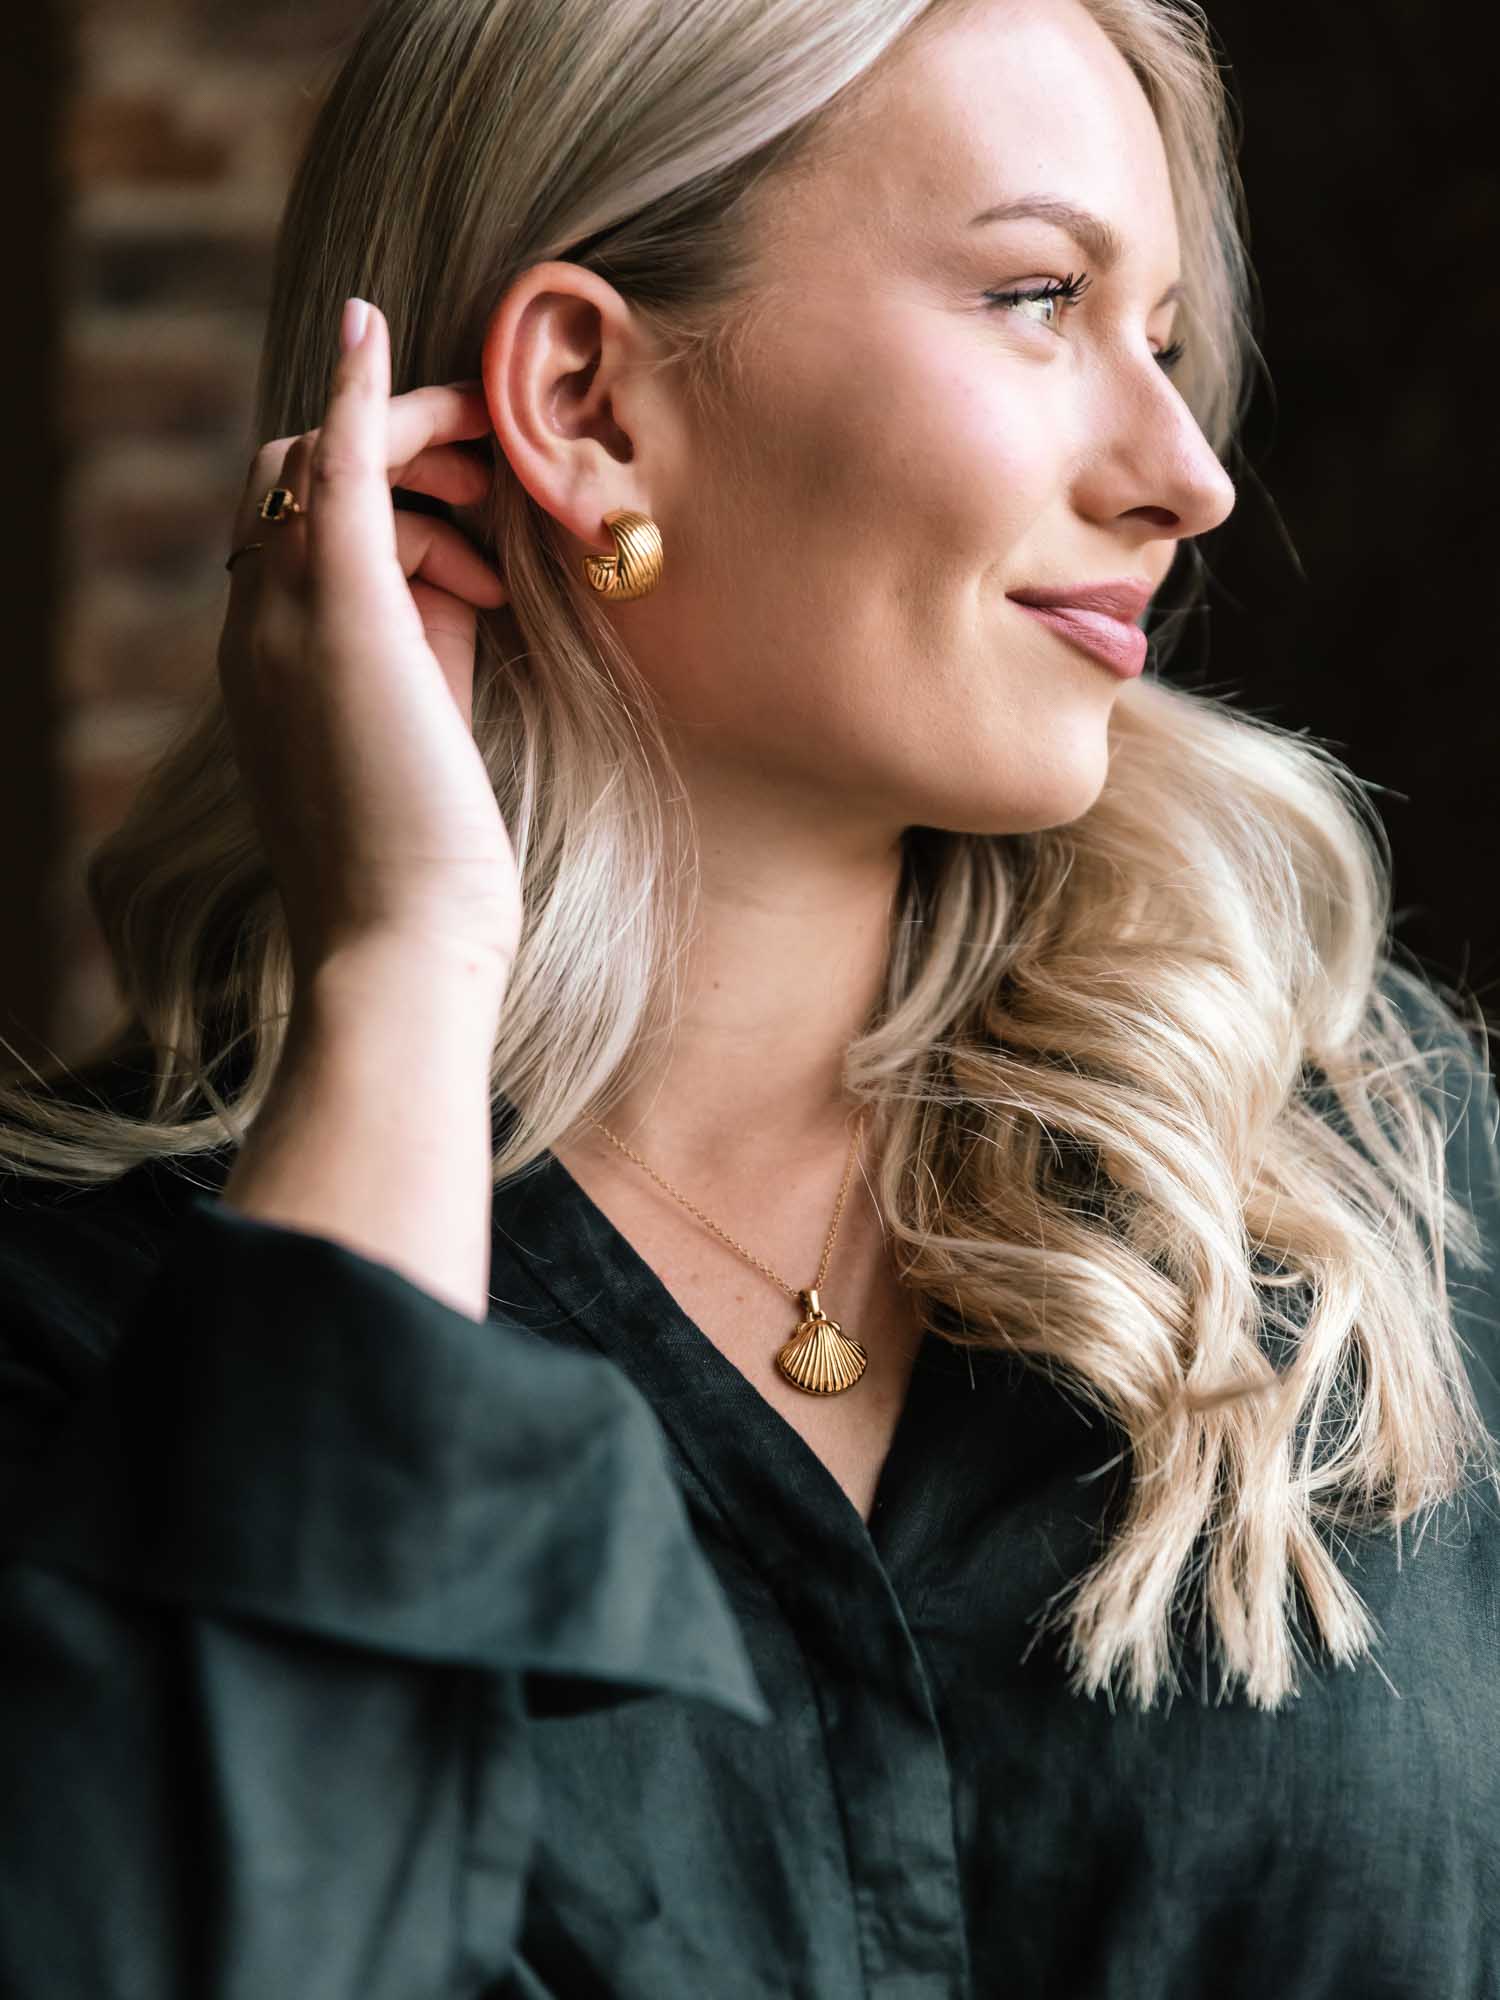
[[[970,218],[1022,194],[1062,196],[1114,222],[1126,256],[1176,270],[1156,118],[1080,0],[968,0],[926,16],[834,118],[800,194],[824,242],[836,220],[896,246],[982,234]]]

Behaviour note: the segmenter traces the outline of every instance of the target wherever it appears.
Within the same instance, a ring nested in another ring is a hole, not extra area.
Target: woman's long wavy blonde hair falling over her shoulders
[[[880,60],[952,6],[380,0],[288,196],[252,442],[318,422],[346,294],[384,308],[402,390],[476,374],[496,302],[546,258],[608,276],[714,422],[774,284],[760,184],[804,170]],[[1084,6],[1160,124],[1186,280],[1174,380],[1222,458],[1254,340],[1212,30],[1192,0]],[[648,690],[494,448],[474,528],[510,604],[480,616],[474,736],[526,910],[492,1068],[500,1182],[606,1116],[672,1032],[696,854]],[[1172,636],[1152,632],[1158,666]],[[150,1088],[126,1112],[12,1082],[0,1164],[106,1182],[240,1144],[292,968],[216,676],[88,888]],[[1388,926],[1360,782],[1158,678],[1120,692],[1076,822],[904,836],[886,990],[846,1082],[928,1326],[1020,1352],[1124,1438],[1108,1542],[1048,1618],[1078,1694],[1172,1692],[1192,1604],[1220,1692],[1276,1708],[1298,1686],[1298,1592],[1334,1662],[1370,1652],[1334,1532],[1396,1526],[1472,1470],[1500,1486],[1446,1288],[1446,1256],[1478,1268],[1482,1242],[1448,1188],[1434,1064],[1446,1042],[1472,1074],[1484,1026],[1396,974]]]

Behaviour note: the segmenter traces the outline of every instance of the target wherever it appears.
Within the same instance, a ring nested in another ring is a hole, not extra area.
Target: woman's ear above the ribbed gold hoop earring
[[[672,414],[640,316],[580,264],[532,264],[494,308],[480,380],[516,478],[574,540],[612,554],[604,516],[660,518]]]

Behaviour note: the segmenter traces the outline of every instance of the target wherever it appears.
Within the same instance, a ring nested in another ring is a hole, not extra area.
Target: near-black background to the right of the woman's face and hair
[[[1500,1008],[1492,68],[1416,0],[1208,18],[1240,106],[1270,372],[1178,678],[1334,744],[1396,936]]]

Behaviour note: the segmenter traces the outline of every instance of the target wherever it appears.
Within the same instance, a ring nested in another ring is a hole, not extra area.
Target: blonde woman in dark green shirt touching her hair
[[[4,1100],[12,2000],[1500,1994],[1482,1024],[1146,614],[1228,132],[1182,0],[370,12]]]

